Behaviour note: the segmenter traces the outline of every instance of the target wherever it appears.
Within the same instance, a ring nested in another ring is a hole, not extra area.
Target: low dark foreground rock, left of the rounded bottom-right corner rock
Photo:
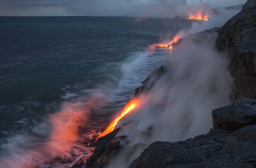
[[[230,131],[212,129],[207,135],[201,135],[199,138],[196,136],[186,141],[158,141],[150,144],[130,168],[196,167],[196,163],[214,156],[230,135]]]

